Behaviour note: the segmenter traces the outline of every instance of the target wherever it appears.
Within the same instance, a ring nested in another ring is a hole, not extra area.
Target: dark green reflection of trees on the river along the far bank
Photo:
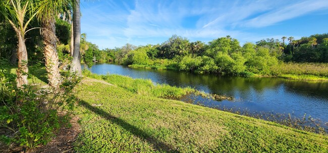
[[[162,77],[162,80],[167,81],[167,84],[179,87],[190,86],[215,94],[239,94],[242,98],[248,98],[252,91],[259,95],[268,89],[278,91],[278,88],[283,86],[285,91],[289,93],[328,99],[328,94],[326,94],[328,93],[328,83],[313,83],[280,78],[222,77],[212,74],[195,74],[168,70],[157,72]]]

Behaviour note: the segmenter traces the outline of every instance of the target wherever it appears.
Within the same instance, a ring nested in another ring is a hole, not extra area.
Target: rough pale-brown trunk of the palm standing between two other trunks
[[[44,43],[45,67],[48,72],[49,85],[52,87],[58,87],[61,83],[55,22],[54,16],[44,18],[42,21],[44,29],[41,30]]]

